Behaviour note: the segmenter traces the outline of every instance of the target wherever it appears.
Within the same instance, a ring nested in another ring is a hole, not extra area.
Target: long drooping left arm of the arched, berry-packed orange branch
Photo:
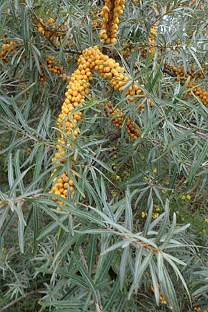
[[[83,54],[78,58],[78,69],[72,73],[69,84],[67,85],[67,92],[65,93],[66,98],[62,104],[62,111],[58,116],[58,128],[62,133],[60,135],[61,139],[58,139],[59,144],[56,146],[58,152],[55,153],[55,157],[52,159],[55,164],[62,164],[66,161],[64,146],[68,146],[71,149],[73,148],[73,145],[67,141],[66,137],[75,140],[80,131],[77,124],[82,118],[82,112],[77,109],[83,107],[86,95],[91,96],[87,88],[90,85],[90,81],[93,79],[92,69],[94,64],[92,62],[97,51],[97,46],[83,51]],[[75,108],[76,112],[73,113]],[[71,161],[73,162],[73,158]],[[53,169],[52,175],[55,174],[55,171],[57,171],[57,168]],[[59,179],[55,177],[53,182],[55,184],[51,189],[52,193],[68,199],[69,189],[71,197],[73,197],[73,180],[69,178],[67,171],[62,173]],[[58,205],[63,205],[61,200],[53,199],[58,202]],[[61,210],[60,207],[57,209]]]

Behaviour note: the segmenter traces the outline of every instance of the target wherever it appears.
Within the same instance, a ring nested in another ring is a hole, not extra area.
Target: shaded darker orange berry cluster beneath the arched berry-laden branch
[[[109,116],[109,114],[113,117],[112,123],[121,130],[124,120],[124,114],[119,110],[119,108],[114,108],[112,103],[105,105],[104,107],[105,115]],[[139,128],[135,123],[133,123],[129,118],[126,119],[125,127],[127,129],[128,135],[133,139],[136,140],[139,137]]]

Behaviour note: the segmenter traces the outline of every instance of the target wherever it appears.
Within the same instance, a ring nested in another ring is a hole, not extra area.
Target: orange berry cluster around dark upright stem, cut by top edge
[[[105,6],[101,12],[103,17],[103,31],[100,33],[101,39],[105,40],[106,44],[117,42],[116,33],[119,29],[119,15],[123,13],[125,0],[105,0]]]

